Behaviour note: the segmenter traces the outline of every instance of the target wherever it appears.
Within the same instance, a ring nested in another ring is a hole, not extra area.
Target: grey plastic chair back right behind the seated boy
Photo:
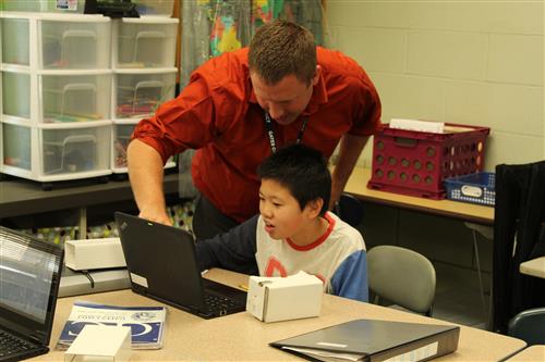
[[[378,246],[367,252],[370,289],[379,298],[416,313],[432,315],[435,269],[424,255],[395,246]]]

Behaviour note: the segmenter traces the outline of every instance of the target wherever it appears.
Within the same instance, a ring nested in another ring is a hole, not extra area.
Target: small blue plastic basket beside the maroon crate
[[[445,179],[447,199],[494,207],[496,174],[480,172]]]

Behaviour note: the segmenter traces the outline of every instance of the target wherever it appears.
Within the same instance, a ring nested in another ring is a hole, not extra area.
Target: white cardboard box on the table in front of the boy
[[[318,316],[323,292],[323,282],[305,272],[288,277],[251,276],[246,311],[263,322]]]

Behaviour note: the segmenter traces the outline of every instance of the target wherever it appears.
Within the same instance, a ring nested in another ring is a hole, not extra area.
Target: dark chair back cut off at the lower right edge
[[[545,307],[514,315],[509,321],[507,334],[524,340],[529,346],[545,345]]]

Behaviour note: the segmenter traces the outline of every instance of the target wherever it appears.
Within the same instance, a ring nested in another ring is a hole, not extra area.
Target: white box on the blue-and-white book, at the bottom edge
[[[64,362],[124,362],[131,358],[131,327],[86,325],[64,353]]]

